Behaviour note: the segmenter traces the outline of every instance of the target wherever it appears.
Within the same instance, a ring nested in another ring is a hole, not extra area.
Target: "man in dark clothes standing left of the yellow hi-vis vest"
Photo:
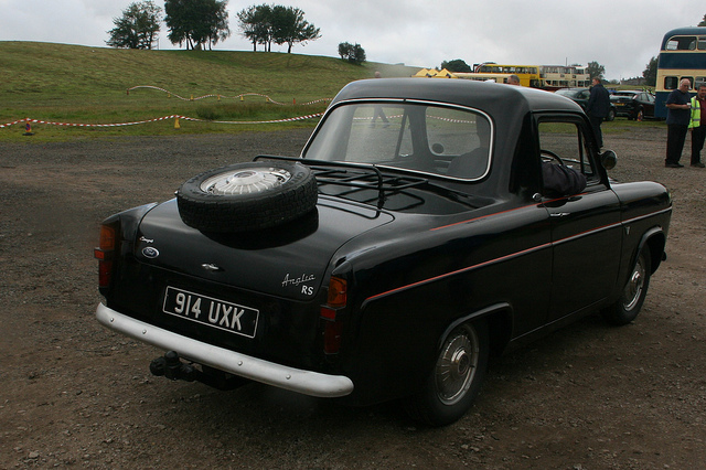
[[[684,140],[688,132],[688,124],[692,118],[688,88],[692,83],[688,78],[682,78],[680,87],[673,89],[666,97],[666,168],[682,168],[680,163]]]

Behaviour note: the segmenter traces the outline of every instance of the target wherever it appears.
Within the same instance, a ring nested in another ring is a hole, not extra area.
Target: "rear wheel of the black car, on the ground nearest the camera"
[[[485,321],[454,328],[441,343],[434,370],[421,389],[409,397],[407,414],[430,426],[460,419],[481,389],[489,356]]]

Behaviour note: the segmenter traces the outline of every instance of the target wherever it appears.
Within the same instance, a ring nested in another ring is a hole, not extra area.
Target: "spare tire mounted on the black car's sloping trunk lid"
[[[311,212],[317,180],[308,167],[248,162],[205,171],[176,191],[182,221],[202,232],[270,228]]]

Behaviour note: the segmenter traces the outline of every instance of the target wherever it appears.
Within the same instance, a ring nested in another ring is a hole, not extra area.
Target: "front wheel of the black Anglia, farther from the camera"
[[[630,276],[618,301],[601,310],[606,321],[617,327],[622,327],[638,317],[648,296],[650,274],[652,273],[651,266],[650,247],[645,245],[640,250],[638,259],[635,259],[635,264],[630,270]]]

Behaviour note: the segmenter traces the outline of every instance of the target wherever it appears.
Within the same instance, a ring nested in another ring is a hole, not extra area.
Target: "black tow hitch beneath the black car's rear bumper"
[[[234,389],[249,382],[207,365],[201,365],[201,370],[199,370],[194,364],[182,362],[174,351],[169,351],[163,356],[153,360],[150,363],[150,372],[152,375],[164,376],[171,381],[199,381],[222,391]]]

